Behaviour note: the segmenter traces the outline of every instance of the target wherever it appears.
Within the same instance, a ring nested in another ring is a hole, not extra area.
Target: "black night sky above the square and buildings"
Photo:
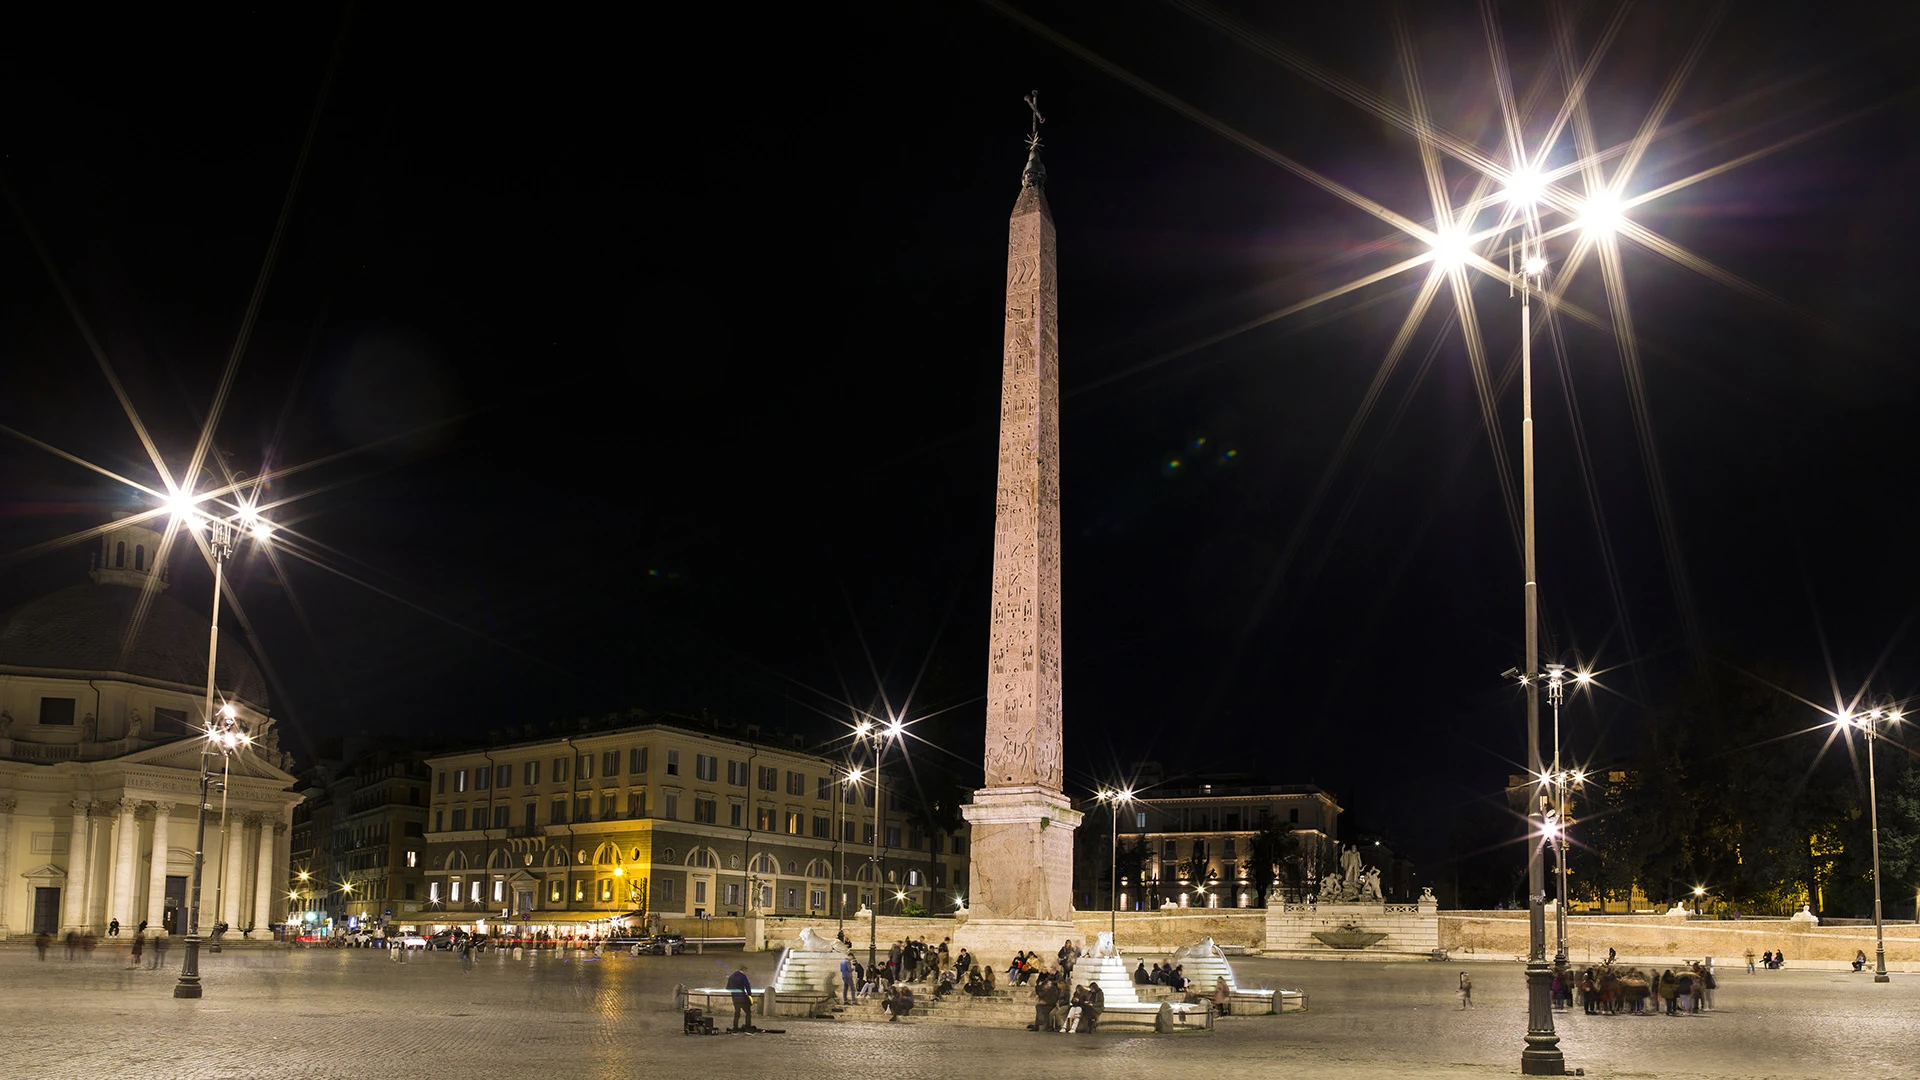
[[[12,35],[0,423],[156,484],[83,325],[179,469],[265,281],[217,446],[246,471],[328,459],[271,484],[313,561],[234,563],[290,749],[630,707],[824,740],[883,688],[937,713],[914,753],[977,784],[1006,215],[1039,88],[1069,784],[1140,759],[1311,780],[1436,865],[1480,844],[1461,807],[1498,803],[1524,749],[1509,503],[1444,288],[1363,413],[1425,267],[1235,332],[1427,246],[1219,127],[1434,217],[1411,135],[1275,60],[1404,108],[1394,10],[1242,8],[363,6]],[[1480,10],[1404,13],[1434,123],[1503,161]],[[1551,23],[1498,15],[1524,96]],[[1582,60],[1611,17],[1580,10]],[[1615,146],[1699,44],[1628,196],[1786,144],[1630,211],[1751,284],[1620,240],[1638,404],[1609,332],[1538,338],[1544,650],[1607,688],[1567,713],[1578,759],[1632,753],[1703,667],[1816,701],[1830,675],[1920,692],[1901,17],[1638,6],[1596,67]],[[1553,77],[1528,131],[1561,100]],[[1453,204],[1473,186],[1450,161]],[[1597,261],[1567,298],[1613,317]],[[1517,484],[1519,304],[1484,275],[1473,302]],[[23,552],[154,505],[21,438],[0,469],[6,607],[83,580],[83,546]],[[207,578],[179,559],[175,596],[204,609]]]

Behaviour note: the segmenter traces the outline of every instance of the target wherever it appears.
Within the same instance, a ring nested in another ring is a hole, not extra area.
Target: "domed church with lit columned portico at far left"
[[[109,528],[92,580],[0,615],[0,938],[186,932],[205,740],[207,617],[167,596],[161,534]],[[179,552],[192,552],[184,536]],[[267,680],[221,636],[219,701],[252,738],[209,796],[200,924],[286,919],[284,771]],[[221,778],[219,753],[209,759]]]

